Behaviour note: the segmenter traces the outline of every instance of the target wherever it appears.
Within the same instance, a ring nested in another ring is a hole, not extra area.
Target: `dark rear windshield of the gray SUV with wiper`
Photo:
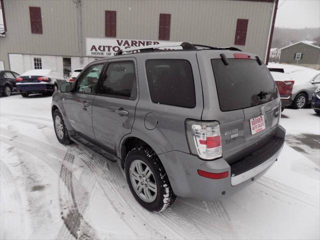
[[[256,60],[211,59],[220,109],[231,111],[271,101],[277,88],[265,65]]]

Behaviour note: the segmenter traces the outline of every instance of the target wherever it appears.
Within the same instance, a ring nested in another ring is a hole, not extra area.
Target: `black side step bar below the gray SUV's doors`
[[[83,146],[86,148],[88,151],[90,151],[92,154],[95,154],[101,158],[104,158],[107,160],[109,163],[114,163],[114,162],[120,162],[120,158],[118,158],[113,152],[110,152],[97,144],[94,144],[85,138],[79,136],[78,134],[74,134],[70,136],[70,139],[80,146]]]

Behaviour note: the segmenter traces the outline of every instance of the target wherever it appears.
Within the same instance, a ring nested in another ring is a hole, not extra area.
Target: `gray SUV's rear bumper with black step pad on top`
[[[223,157],[204,161],[180,151],[159,154],[174,193],[182,197],[216,200],[230,195],[258,179],[276,161],[284,143],[285,130],[277,127],[273,141],[248,156],[229,165]],[[210,179],[198,175],[197,169],[218,173],[228,171],[228,177]]]

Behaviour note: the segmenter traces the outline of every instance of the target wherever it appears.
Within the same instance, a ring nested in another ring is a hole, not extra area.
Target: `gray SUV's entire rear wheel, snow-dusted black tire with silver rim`
[[[140,167],[142,171],[138,169]],[[176,195],[162,163],[152,149],[136,147],[130,150],[125,157],[124,171],[132,195],[145,209],[160,212],[175,201]]]

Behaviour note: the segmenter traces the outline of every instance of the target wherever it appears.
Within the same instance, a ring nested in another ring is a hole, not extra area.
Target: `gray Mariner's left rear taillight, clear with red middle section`
[[[192,154],[209,160],[222,156],[220,127],[217,121],[186,120],[185,126]]]

